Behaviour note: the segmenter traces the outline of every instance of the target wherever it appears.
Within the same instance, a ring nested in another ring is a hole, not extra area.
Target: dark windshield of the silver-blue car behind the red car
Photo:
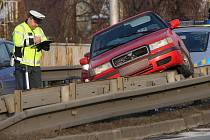
[[[176,32],[183,42],[185,43],[187,49],[190,52],[204,52],[206,51],[208,45],[209,33],[205,31],[199,32]]]

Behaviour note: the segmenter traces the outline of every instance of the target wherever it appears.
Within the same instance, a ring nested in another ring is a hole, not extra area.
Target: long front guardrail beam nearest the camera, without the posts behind
[[[206,98],[210,76],[25,110],[0,122],[0,130],[8,135],[58,130]]]

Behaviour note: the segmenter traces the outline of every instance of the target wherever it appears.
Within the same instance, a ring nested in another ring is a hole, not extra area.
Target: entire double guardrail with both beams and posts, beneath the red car
[[[172,71],[83,84],[70,83],[22,93],[19,91],[14,97],[3,98],[7,111],[16,113],[0,121],[0,134],[58,130],[210,98],[210,76],[206,75],[209,68],[196,69],[198,71],[194,78],[183,80],[182,76]],[[0,105],[3,103],[0,102]],[[3,110],[3,107],[0,109]]]

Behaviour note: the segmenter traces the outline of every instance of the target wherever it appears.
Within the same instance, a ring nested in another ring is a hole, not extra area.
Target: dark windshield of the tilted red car
[[[167,25],[153,13],[117,24],[95,35],[91,45],[91,57],[163,28],[167,28]]]

